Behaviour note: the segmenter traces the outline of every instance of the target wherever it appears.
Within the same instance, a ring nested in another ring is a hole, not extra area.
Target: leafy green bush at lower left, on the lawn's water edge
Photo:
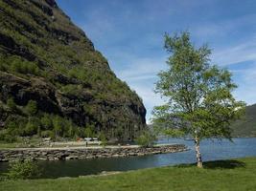
[[[25,180],[40,177],[40,170],[32,160],[17,160],[10,162],[10,167],[6,177],[9,180]]]

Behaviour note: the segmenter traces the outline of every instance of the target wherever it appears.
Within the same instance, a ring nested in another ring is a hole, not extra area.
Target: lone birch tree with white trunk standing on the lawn
[[[155,92],[167,102],[154,108],[152,121],[169,135],[192,137],[202,167],[201,139],[231,139],[230,122],[241,116],[244,103],[231,94],[237,87],[231,74],[210,65],[211,50],[205,45],[197,49],[188,32],[166,34],[165,49],[169,68],[158,74]]]

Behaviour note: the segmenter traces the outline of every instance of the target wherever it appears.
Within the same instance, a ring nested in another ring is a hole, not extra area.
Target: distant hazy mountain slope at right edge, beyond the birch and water
[[[245,107],[245,115],[232,124],[233,137],[256,137],[256,104]]]

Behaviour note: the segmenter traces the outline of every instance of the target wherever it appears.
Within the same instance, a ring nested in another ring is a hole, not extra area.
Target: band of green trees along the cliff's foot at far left
[[[88,127],[93,129],[92,126]],[[76,136],[83,137],[83,132],[84,129],[77,128],[71,119],[54,115],[36,114],[33,117],[10,116],[6,120],[6,129],[0,131],[0,140],[13,142],[16,140],[16,137],[34,135],[53,139],[57,137],[74,138]]]

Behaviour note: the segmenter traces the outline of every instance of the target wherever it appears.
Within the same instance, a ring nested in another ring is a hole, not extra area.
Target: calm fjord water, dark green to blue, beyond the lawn
[[[159,140],[159,143],[181,143],[190,150],[143,157],[40,161],[39,164],[44,169],[43,178],[58,178],[196,162],[193,141],[164,138]],[[233,138],[233,142],[227,139],[214,139],[214,141],[207,139],[201,142],[200,149],[204,161],[256,157],[256,138]],[[6,168],[7,163],[0,163],[0,172],[5,171]]]

